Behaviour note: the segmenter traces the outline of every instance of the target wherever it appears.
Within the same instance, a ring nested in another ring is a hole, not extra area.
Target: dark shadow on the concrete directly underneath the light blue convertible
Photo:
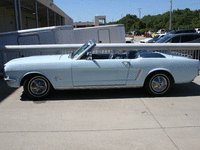
[[[164,97],[200,96],[200,85],[192,82],[174,85],[171,91]],[[122,98],[148,98],[143,88],[113,88],[113,89],[79,89],[79,90],[55,90],[47,98],[40,101],[56,100],[94,100],[94,99],[122,99]],[[22,94],[22,101],[29,101]]]

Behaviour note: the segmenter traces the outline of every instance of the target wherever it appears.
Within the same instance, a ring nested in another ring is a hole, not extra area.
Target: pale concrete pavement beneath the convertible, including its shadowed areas
[[[143,89],[54,91],[28,100],[0,78],[0,149],[199,150],[200,77],[166,97]]]

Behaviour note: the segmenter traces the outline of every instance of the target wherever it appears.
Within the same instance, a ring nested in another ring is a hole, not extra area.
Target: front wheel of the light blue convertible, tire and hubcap
[[[44,98],[52,89],[50,82],[40,75],[27,78],[23,87],[25,94],[31,99]]]

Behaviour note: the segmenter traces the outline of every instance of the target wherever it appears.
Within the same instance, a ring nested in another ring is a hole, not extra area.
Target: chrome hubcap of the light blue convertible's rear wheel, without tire
[[[153,80],[152,80],[152,89],[155,91],[155,92],[162,92],[164,91],[167,86],[168,86],[168,83],[167,83],[167,79],[163,76],[156,76]]]

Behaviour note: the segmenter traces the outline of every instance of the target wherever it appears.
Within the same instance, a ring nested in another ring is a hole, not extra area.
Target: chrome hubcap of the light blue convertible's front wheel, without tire
[[[35,79],[30,83],[30,90],[35,95],[44,94],[47,91],[47,83],[44,79]]]

